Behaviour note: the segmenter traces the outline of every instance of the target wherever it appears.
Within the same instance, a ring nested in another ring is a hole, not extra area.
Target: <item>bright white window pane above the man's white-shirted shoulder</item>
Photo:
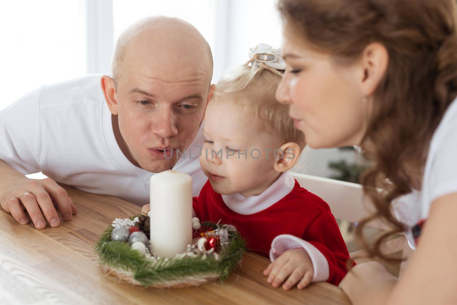
[[[45,84],[85,75],[85,1],[0,5],[0,110]]]

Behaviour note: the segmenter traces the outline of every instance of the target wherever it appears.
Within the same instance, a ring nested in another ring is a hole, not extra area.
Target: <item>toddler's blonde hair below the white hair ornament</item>
[[[304,134],[295,128],[289,117],[289,106],[276,101],[276,88],[281,76],[263,68],[239,66],[225,73],[218,81],[212,102],[219,96],[237,94],[237,103],[253,112],[284,143],[295,142],[300,151],[305,147]]]

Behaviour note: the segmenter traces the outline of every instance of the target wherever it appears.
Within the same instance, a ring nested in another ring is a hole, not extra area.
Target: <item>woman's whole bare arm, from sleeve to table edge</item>
[[[457,193],[437,198],[417,251],[397,281],[377,262],[361,263],[340,287],[358,304],[457,304]]]

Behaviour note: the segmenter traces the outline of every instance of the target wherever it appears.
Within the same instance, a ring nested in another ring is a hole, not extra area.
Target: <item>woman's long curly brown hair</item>
[[[359,223],[356,236],[371,257],[395,261],[380,251],[406,230],[392,200],[411,192],[412,175],[422,176],[430,139],[457,95],[456,6],[455,0],[279,0],[286,33],[337,62],[355,62],[373,42],[388,50],[362,141],[374,162],[361,184],[376,212]],[[377,218],[392,230],[369,246],[361,230]]]

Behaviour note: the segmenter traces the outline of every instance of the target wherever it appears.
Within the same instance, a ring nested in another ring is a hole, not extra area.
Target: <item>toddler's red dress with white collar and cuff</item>
[[[201,221],[220,219],[236,226],[250,251],[271,260],[303,247],[313,261],[314,281],[337,285],[346,274],[349,253],[328,204],[300,187],[288,172],[264,193],[248,198],[239,193],[220,195],[208,180],[194,198],[193,208]]]

